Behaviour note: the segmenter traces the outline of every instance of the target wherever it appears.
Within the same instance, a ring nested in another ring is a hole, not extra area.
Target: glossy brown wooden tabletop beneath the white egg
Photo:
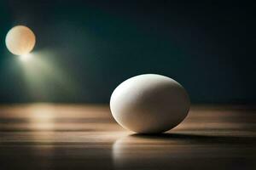
[[[256,169],[256,110],[192,106],[179,126],[137,135],[108,105],[0,106],[0,169]]]

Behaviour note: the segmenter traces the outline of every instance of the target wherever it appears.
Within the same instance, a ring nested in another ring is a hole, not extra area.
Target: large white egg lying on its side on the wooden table
[[[169,77],[144,74],[114,89],[110,99],[113,118],[136,133],[162,133],[176,127],[189,112],[189,95]]]

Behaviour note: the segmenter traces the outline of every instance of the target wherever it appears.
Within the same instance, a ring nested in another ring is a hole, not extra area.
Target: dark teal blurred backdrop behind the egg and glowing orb
[[[178,2],[1,1],[0,102],[107,103],[120,82],[157,73],[193,103],[255,103],[255,4]],[[16,25],[32,28],[33,52],[50,52],[40,57],[73,85],[42,71],[27,84],[4,42]]]

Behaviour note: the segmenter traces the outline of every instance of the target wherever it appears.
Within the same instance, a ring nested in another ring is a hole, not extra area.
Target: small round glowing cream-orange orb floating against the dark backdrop
[[[15,26],[6,35],[6,47],[12,54],[26,55],[36,43],[35,34],[26,26]]]

